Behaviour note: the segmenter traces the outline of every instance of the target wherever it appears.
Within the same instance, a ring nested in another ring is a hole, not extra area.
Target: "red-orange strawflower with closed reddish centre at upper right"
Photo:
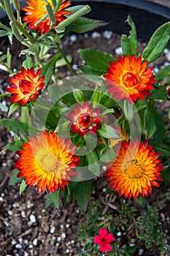
[[[142,62],[142,57],[133,54],[119,56],[118,61],[110,62],[105,83],[108,93],[113,99],[127,99],[129,103],[136,102],[137,99],[144,99],[144,95],[150,95],[150,89],[154,89],[155,76],[152,67],[147,67],[147,61]]]

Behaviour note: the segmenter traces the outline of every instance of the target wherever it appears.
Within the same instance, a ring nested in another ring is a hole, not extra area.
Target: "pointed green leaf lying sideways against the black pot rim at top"
[[[67,26],[65,33],[69,31],[74,31],[76,33],[85,33],[87,31],[90,31],[105,25],[107,25],[107,23],[104,22],[103,20],[92,20],[89,18],[81,17],[75,20],[74,23]]]

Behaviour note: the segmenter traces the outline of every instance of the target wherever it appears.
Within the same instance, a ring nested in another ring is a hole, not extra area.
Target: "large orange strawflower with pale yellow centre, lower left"
[[[15,161],[15,168],[20,170],[18,177],[24,177],[29,186],[37,185],[37,191],[55,192],[63,189],[71,176],[77,176],[72,170],[79,164],[79,157],[74,156],[75,147],[70,148],[70,140],[58,138],[55,132],[41,132],[36,138],[30,137],[18,151],[20,159]]]

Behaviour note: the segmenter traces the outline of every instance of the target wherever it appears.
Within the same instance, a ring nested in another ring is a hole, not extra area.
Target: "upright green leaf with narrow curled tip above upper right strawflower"
[[[123,49],[123,54],[132,55],[133,53],[137,55],[137,34],[136,34],[136,27],[134,25],[134,21],[130,16],[128,16],[128,25],[131,26],[130,35],[127,37],[127,35],[123,34],[121,37],[121,47]]]

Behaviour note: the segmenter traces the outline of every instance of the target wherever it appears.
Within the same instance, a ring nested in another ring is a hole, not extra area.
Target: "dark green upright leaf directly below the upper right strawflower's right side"
[[[157,129],[157,119],[155,118],[155,113],[154,102],[150,100],[150,102],[147,104],[147,108],[144,110],[144,130],[149,138],[154,135]]]

